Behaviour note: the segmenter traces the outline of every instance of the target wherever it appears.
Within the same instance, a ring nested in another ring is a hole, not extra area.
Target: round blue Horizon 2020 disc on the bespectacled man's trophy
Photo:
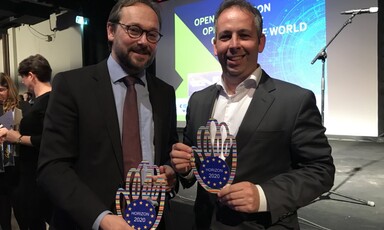
[[[135,229],[151,229],[156,220],[156,209],[148,200],[135,200],[125,211],[124,219]]]

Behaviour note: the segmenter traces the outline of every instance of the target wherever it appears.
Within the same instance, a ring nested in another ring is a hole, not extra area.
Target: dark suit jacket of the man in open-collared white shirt
[[[192,95],[187,110],[184,142],[196,145],[218,96],[216,85]],[[296,210],[328,191],[335,168],[313,93],[270,78],[264,71],[236,136],[238,159],[233,183],[259,184],[268,212],[245,214],[218,208],[217,221],[235,228],[298,228]],[[183,180],[184,187],[195,181]],[[195,201],[197,229],[208,229],[216,195],[198,186]],[[225,229],[222,227],[222,229]]]

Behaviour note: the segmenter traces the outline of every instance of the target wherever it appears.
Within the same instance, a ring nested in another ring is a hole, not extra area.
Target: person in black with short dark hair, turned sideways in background
[[[21,120],[19,131],[9,130],[5,138],[20,148],[19,199],[23,206],[18,222],[21,230],[45,230],[50,208],[47,198],[37,187],[36,171],[45,110],[51,92],[52,69],[43,56],[36,54],[21,61],[18,72],[21,82],[35,95],[34,104]]]

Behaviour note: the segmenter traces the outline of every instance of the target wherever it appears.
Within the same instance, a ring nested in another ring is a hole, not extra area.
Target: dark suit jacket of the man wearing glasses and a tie
[[[178,141],[174,89],[147,75],[155,164],[169,163]],[[124,186],[123,154],[107,62],[57,74],[45,116],[38,182],[54,206],[56,229],[91,229],[115,209]]]

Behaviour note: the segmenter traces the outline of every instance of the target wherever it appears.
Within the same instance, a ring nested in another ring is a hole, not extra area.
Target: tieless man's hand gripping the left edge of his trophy
[[[173,169],[180,174],[186,174],[192,170],[191,158],[192,148],[183,143],[176,143],[172,146],[170,153]]]

